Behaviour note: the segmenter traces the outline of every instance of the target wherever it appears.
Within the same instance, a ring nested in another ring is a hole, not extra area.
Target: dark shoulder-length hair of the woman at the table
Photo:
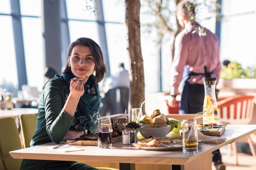
[[[69,45],[67,50],[66,68],[64,69],[63,73],[67,73],[71,70],[71,68],[68,67],[68,59],[75,46],[85,46],[91,49],[91,52],[95,61],[95,73],[96,73],[95,81],[97,83],[101,82],[102,79],[104,78],[104,75],[107,73],[107,68],[104,64],[103,53],[101,51],[100,46],[90,38],[85,38],[85,37],[78,38],[76,41],[72,42]]]

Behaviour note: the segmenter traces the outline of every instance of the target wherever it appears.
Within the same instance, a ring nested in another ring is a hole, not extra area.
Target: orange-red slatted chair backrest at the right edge
[[[252,120],[254,96],[234,96],[217,103],[220,123],[249,124]]]

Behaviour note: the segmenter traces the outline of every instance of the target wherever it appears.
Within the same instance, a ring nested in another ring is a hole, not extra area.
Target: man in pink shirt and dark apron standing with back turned
[[[217,83],[221,70],[218,38],[195,21],[195,6],[189,1],[181,1],[176,7],[177,19],[183,31],[175,39],[169,105],[177,105],[175,97],[181,83],[180,114],[203,111],[202,78],[216,77]],[[213,162],[217,170],[225,170],[219,150],[213,152]]]

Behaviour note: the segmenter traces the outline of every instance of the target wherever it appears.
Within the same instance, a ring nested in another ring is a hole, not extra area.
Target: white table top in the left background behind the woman
[[[21,114],[38,113],[38,109],[35,108],[13,108],[11,110],[0,110],[0,118],[19,118]]]

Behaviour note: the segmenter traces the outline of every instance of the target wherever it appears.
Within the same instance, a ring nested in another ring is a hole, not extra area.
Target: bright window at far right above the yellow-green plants
[[[256,1],[223,0],[221,59],[256,66]]]

